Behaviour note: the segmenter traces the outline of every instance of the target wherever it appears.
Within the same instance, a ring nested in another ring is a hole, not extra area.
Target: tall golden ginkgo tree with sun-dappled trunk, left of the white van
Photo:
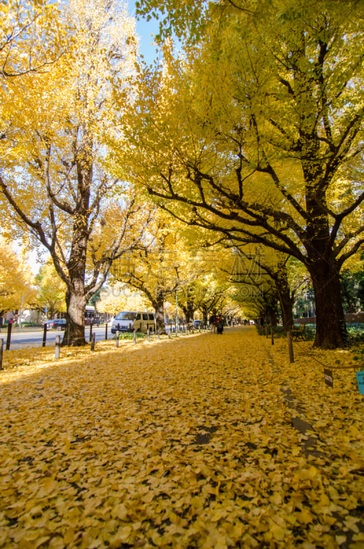
[[[120,115],[115,90],[132,91],[135,23],[125,3],[106,0],[70,0],[65,18],[67,52],[12,89],[16,119],[5,104],[13,127],[0,141],[0,198],[13,234],[30,231],[67,287],[62,344],[82,345],[84,308],[112,262],[146,245],[150,209],[105,167],[106,135]]]

